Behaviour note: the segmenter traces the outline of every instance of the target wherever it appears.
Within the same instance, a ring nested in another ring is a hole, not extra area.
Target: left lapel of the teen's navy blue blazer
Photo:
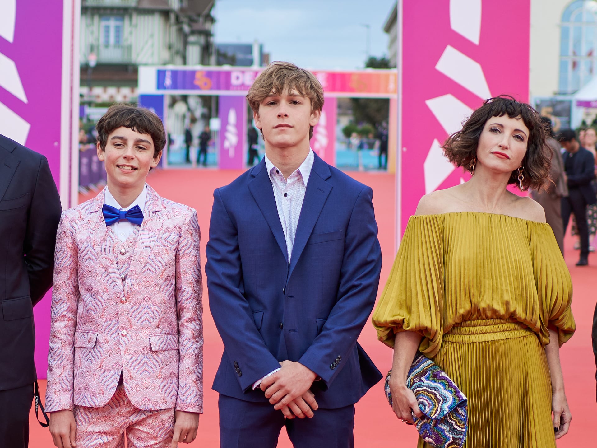
[[[276,199],[273,197],[272,182],[267,175],[264,159],[251,170],[251,176],[253,176],[253,179],[248,183],[249,191],[253,195],[255,202],[257,202],[259,210],[261,210],[267,225],[269,225],[272,231],[273,237],[276,238],[278,246],[288,262],[286,239],[284,238],[284,231],[282,230],[278,214],[278,206],[276,205]]]

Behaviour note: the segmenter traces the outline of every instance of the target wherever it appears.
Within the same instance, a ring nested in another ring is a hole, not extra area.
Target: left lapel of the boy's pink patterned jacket
[[[106,189],[104,188],[91,202],[88,222],[89,234],[91,235],[91,241],[93,241],[94,251],[96,252],[97,257],[99,257],[101,265],[109,274],[110,283],[113,283],[111,286],[116,287],[120,282],[120,273],[118,272],[118,266],[116,265],[116,256],[112,244],[110,244],[109,241],[106,221],[101,213],[105,194]]]

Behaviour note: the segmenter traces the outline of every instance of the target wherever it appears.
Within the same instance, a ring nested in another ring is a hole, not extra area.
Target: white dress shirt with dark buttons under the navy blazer
[[[288,179],[284,179],[282,171],[276,168],[272,161],[265,155],[265,166],[269,180],[272,182],[273,197],[276,198],[276,207],[278,207],[278,216],[284,231],[284,238],[286,240],[286,251],[288,254],[288,263],[290,263],[290,256],[293,253],[294,237],[297,233],[298,218],[300,211],[303,208],[304,192],[307,190],[307,182],[309,182],[309,175],[311,168],[313,168],[313,150],[309,148],[309,154],[304,159]],[[263,378],[260,378],[253,383],[253,389],[256,389],[261,381],[266,379],[273,373],[280,369],[275,369],[268,373]]]

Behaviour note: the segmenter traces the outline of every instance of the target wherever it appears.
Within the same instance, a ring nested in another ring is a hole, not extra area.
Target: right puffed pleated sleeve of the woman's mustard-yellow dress
[[[558,329],[560,345],[574,334],[576,324],[570,305],[572,282],[570,272],[549,225],[529,223],[529,243],[533,257],[533,274],[541,312],[540,340],[549,343],[549,326]]]

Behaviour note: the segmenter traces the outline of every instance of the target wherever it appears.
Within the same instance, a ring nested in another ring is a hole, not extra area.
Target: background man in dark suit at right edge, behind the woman
[[[591,185],[595,177],[595,157],[578,143],[576,132],[565,129],[560,133],[560,144],[564,153],[564,169],[568,177],[568,197],[562,198],[562,221],[564,234],[570,213],[576,216],[580,235],[580,260],[577,266],[586,266],[589,257],[589,227],[587,226],[587,204],[595,204],[597,197]]]

